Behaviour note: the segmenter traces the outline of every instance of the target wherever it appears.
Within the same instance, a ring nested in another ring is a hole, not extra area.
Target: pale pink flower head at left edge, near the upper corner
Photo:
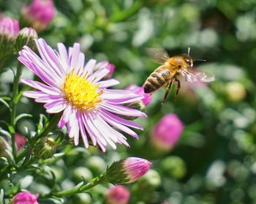
[[[18,20],[10,17],[1,18],[0,16],[0,36],[5,36],[8,39],[15,39],[20,30]]]

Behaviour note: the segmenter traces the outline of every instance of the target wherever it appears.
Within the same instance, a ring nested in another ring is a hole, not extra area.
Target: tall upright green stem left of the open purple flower
[[[13,81],[13,88],[12,88],[12,106],[11,106],[11,126],[12,128],[10,129],[10,133],[12,135],[12,155],[14,159],[16,158],[17,155],[17,148],[15,146],[15,117],[16,117],[16,109],[17,109],[17,104],[20,99],[18,97],[18,91],[19,91],[19,83],[20,83],[20,76],[23,71],[23,64],[18,62],[17,66],[17,72]]]

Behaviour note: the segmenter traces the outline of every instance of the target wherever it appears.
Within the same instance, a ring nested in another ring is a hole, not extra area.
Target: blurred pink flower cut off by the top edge
[[[22,10],[24,20],[37,31],[46,29],[55,13],[53,0],[34,0]]]

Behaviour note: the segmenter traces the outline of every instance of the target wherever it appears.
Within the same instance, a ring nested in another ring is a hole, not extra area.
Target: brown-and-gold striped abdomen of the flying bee
[[[144,83],[144,92],[151,93],[157,91],[158,88],[164,86],[170,79],[173,77],[173,74],[167,68],[167,66],[162,65],[157,68],[146,80]]]

